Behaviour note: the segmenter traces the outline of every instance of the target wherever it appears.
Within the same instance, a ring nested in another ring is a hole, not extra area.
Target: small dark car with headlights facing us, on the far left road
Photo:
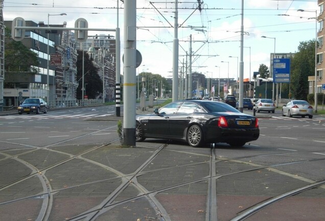
[[[42,98],[27,98],[18,106],[18,114],[22,113],[48,113],[48,105]]]

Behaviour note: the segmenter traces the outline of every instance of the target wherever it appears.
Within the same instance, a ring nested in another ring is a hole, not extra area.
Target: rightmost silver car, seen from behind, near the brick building
[[[313,118],[313,107],[305,100],[292,100],[282,107],[282,116],[308,116]]]

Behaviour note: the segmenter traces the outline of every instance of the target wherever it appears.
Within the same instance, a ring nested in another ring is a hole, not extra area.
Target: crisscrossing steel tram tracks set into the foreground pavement
[[[92,133],[89,133],[92,134]],[[84,135],[86,136],[86,135]],[[69,139],[72,140],[72,139]],[[82,185],[89,185],[89,184],[94,184],[94,183],[99,183],[105,180],[113,180],[113,179],[123,179],[122,184],[115,189],[109,196],[106,197],[106,199],[97,207],[94,207],[92,209],[89,209],[87,212],[85,213],[81,213],[77,216],[71,217],[69,219],[66,220],[96,220],[96,218],[98,218],[100,215],[104,214],[105,212],[111,210],[112,208],[115,208],[117,206],[123,205],[125,203],[129,203],[131,201],[137,200],[139,198],[143,198],[145,197],[147,201],[150,202],[150,204],[152,205],[152,207],[156,210],[156,212],[159,214],[160,216],[160,220],[172,220],[170,218],[170,216],[168,215],[168,212],[166,212],[164,206],[162,206],[159,201],[155,198],[155,195],[157,193],[160,192],[164,192],[166,190],[170,190],[170,189],[174,189],[174,188],[178,188],[178,187],[182,187],[185,185],[189,185],[189,184],[194,184],[194,183],[198,183],[198,182],[202,182],[202,181],[208,181],[208,191],[207,191],[207,204],[206,204],[206,221],[211,221],[211,220],[216,220],[217,215],[217,195],[216,195],[216,181],[218,179],[220,179],[221,177],[225,177],[228,175],[234,175],[237,173],[245,173],[245,172],[250,172],[250,171],[254,171],[254,170],[260,170],[260,169],[266,169],[266,168],[274,168],[274,167],[278,167],[278,166],[286,166],[286,165],[292,165],[292,164],[299,164],[299,163],[306,163],[306,162],[313,162],[313,161],[323,161],[325,160],[325,158],[315,158],[315,159],[309,159],[309,160],[301,160],[301,161],[295,161],[295,162],[286,162],[286,163],[281,163],[281,164],[273,164],[273,165],[265,165],[265,166],[259,166],[259,167],[255,167],[252,169],[246,169],[246,170],[239,170],[239,171],[235,171],[235,172],[228,172],[228,173],[223,173],[223,174],[216,174],[216,163],[222,162],[222,161],[239,161],[241,159],[247,159],[247,158],[252,158],[252,157],[266,157],[266,156],[292,156],[292,154],[297,154],[297,153],[313,153],[315,152],[315,150],[313,151],[301,151],[301,152],[290,152],[290,153],[274,153],[274,154],[257,154],[257,155],[252,155],[252,156],[245,156],[245,157],[238,157],[238,158],[233,158],[233,159],[218,159],[218,157],[215,155],[215,145],[212,145],[210,148],[210,161],[209,162],[199,162],[199,163],[191,163],[191,164],[184,164],[184,165],[179,165],[179,166],[174,166],[174,167],[168,167],[168,168],[160,168],[160,169],[155,169],[155,170],[146,170],[144,171],[144,168],[146,168],[151,162],[152,160],[158,156],[158,154],[163,151],[165,149],[166,146],[168,146],[168,144],[163,144],[161,145],[159,148],[157,148],[152,154],[151,156],[138,168],[136,168],[136,170],[131,173],[131,174],[124,174],[122,172],[120,172],[119,170],[114,170],[113,168],[107,167],[105,165],[102,165],[98,162],[95,161],[91,161],[89,159],[86,159],[84,157],[82,157],[84,154],[86,153],[90,153],[91,151],[94,151],[98,148],[110,145],[111,143],[113,143],[114,141],[117,141],[117,139],[111,140],[105,144],[101,144],[101,145],[97,145],[95,147],[92,147],[88,150],[85,150],[83,152],[80,152],[78,154],[70,154],[70,153],[65,153],[62,151],[57,151],[57,150],[52,150],[52,151],[56,151],[62,154],[67,154],[67,156],[69,157],[68,159],[58,162],[56,164],[53,164],[51,166],[48,166],[46,168],[43,168],[41,170],[38,170],[36,167],[33,167],[32,165],[28,164],[25,161],[19,160],[20,163],[24,163],[26,164],[28,167],[30,167],[32,169],[32,173],[29,176],[26,176],[24,178],[21,178],[20,180],[16,180],[10,184],[7,184],[6,186],[2,186],[0,188],[0,192],[12,185],[15,185],[19,182],[23,182],[33,176],[37,176],[39,178],[39,180],[42,183],[43,186],[43,193],[42,194],[37,194],[37,195],[33,195],[33,196],[29,196],[29,197],[25,197],[25,198],[20,198],[17,199],[15,201],[8,201],[8,202],[2,202],[0,203],[1,205],[5,205],[5,204],[10,204],[10,203],[14,203],[17,201],[22,201],[22,200],[26,200],[27,198],[35,198],[35,197],[42,197],[43,198],[43,204],[42,207],[40,209],[40,213],[39,216],[37,218],[37,220],[48,220],[49,216],[51,214],[51,209],[53,206],[53,203],[51,200],[53,200],[53,197],[51,197],[51,195],[59,192],[59,191],[63,191],[66,190],[66,188],[64,189],[60,189],[60,190],[53,190],[51,187],[51,183],[48,181],[46,175],[44,175],[44,173],[47,170],[53,169],[57,166],[60,166],[62,164],[65,164],[73,159],[81,159],[84,161],[87,161],[90,164],[94,164],[100,167],[104,167],[114,173],[116,173],[118,176],[115,178],[110,178],[110,179],[103,179],[100,181],[96,181],[96,182],[91,182],[91,183],[85,183]],[[64,143],[62,142],[57,142],[56,144],[52,144],[46,147],[42,147],[39,149],[47,149],[47,150],[51,150],[48,147],[50,146],[54,146],[57,144],[62,144]],[[38,149],[33,149],[33,151],[37,151]],[[175,150],[173,150],[175,151]],[[2,153],[4,154],[4,153]],[[21,156],[24,153],[20,153],[20,154],[16,154],[15,156],[8,156],[7,154],[5,154],[5,158],[4,159],[15,159],[17,160],[19,156]],[[26,152],[25,152],[26,154]],[[2,159],[3,160],[3,159]],[[149,191],[147,190],[145,187],[143,187],[140,183],[137,182],[137,176],[139,175],[143,175],[146,174],[148,172],[154,172],[154,171],[160,171],[160,170],[166,170],[166,169],[171,169],[171,168],[178,168],[178,167],[187,167],[187,166],[193,166],[193,165],[200,165],[200,164],[210,164],[210,172],[208,176],[202,177],[201,179],[197,179],[197,180],[193,180],[190,182],[183,182],[183,183],[179,183],[177,185],[172,185],[172,186],[168,186],[166,188],[161,188],[155,191]],[[261,202],[260,204],[257,204],[256,206],[243,211],[242,213],[240,213],[238,216],[234,217],[233,220],[244,220],[245,218],[249,217],[250,215],[261,211],[262,209],[264,209],[265,207],[267,207],[270,204],[274,204],[277,202],[280,202],[281,200],[283,200],[283,198],[285,197],[289,197],[292,196],[294,194],[297,194],[299,192],[302,191],[307,191],[311,188],[314,187],[318,187],[318,186],[322,186],[324,184],[324,181],[316,181],[313,184],[309,184],[306,185],[305,187],[301,187],[299,189],[295,189],[292,191],[288,191],[286,193],[281,194],[280,196],[276,196],[273,198],[270,198],[267,202]],[[135,186],[141,193],[137,196],[134,197],[130,197],[127,198],[123,201],[120,202],[114,202],[114,199],[128,186],[128,185],[133,185]],[[76,186],[70,186],[68,188],[76,188],[76,187],[80,187],[81,185],[76,185]]]

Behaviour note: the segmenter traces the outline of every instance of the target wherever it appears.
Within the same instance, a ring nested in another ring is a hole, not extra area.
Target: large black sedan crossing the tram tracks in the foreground
[[[228,104],[206,100],[182,100],[136,116],[136,141],[146,138],[184,140],[190,146],[228,143],[243,146],[260,136],[256,117]]]

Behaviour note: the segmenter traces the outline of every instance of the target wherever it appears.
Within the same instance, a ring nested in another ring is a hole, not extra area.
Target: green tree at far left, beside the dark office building
[[[10,32],[6,28],[5,70],[7,72],[38,73],[38,70],[34,68],[39,65],[37,54],[24,46],[21,41],[11,39]]]

